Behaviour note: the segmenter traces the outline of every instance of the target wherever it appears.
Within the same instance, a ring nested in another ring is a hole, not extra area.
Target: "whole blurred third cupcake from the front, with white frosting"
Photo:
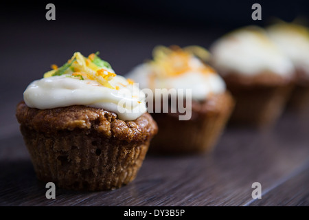
[[[294,66],[262,28],[240,28],[211,45],[211,64],[236,99],[231,123],[264,129],[282,114]]]

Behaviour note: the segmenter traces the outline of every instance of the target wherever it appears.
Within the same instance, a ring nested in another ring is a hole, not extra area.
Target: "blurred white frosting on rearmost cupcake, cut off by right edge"
[[[267,28],[275,44],[309,77],[309,29],[295,23],[277,23]]]

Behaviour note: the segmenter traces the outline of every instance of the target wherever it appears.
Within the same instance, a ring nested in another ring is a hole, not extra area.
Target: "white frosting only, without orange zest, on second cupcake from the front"
[[[206,67],[200,59],[191,55],[188,60],[180,59],[174,65],[178,65],[178,62],[187,62],[185,71],[180,74],[161,74],[164,69],[159,69],[158,73],[157,65],[143,63],[126,74],[126,77],[139,83],[140,88],[192,89],[194,100],[205,100],[211,94],[222,94],[226,91],[224,80],[216,74],[214,69]],[[209,69],[205,71],[205,68]]]

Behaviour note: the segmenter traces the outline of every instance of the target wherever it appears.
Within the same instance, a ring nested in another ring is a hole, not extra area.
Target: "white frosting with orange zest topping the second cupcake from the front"
[[[225,82],[203,63],[209,53],[198,46],[157,46],[153,59],[128,73],[139,87],[155,89],[192,89],[192,99],[205,100],[211,94],[225,92]]]

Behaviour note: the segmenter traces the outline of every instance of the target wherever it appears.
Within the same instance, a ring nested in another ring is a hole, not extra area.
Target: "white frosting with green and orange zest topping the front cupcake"
[[[52,67],[25,89],[27,107],[85,105],[117,113],[120,120],[135,120],[146,112],[145,94],[133,80],[116,75],[98,53],[84,57],[76,52],[62,67]]]

